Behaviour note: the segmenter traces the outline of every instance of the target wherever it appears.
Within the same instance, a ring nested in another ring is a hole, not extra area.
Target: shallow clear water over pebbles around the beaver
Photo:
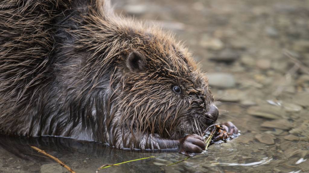
[[[176,33],[210,76],[220,109],[242,135],[183,163],[177,152],[124,151],[61,138],[0,136],[1,172],[309,172],[309,1],[113,1],[117,13]],[[224,79],[227,77],[227,79]],[[220,102],[220,103],[219,103]]]

